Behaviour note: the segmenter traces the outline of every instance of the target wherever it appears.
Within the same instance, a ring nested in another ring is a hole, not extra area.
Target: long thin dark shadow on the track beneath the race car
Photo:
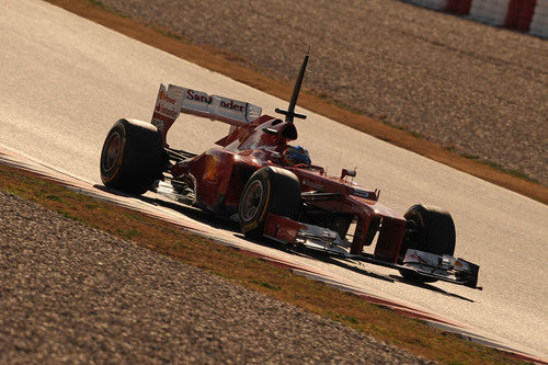
[[[399,276],[397,274],[396,275],[395,274],[384,275],[384,274],[375,273],[373,271],[368,271],[367,266],[373,265],[373,264],[355,262],[355,261],[343,261],[342,258],[335,258],[335,256],[328,255],[328,254],[319,252],[319,251],[307,250],[304,248],[289,247],[287,244],[283,244],[281,242],[277,242],[277,241],[274,241],[271,239],[264,239],[264,240],[248,239],[241,233],[239,225],[237,223],[230,220],[229,217],[222,217],[222,216],[219,217],[218,215],[215,215],[210,212],[203,210],[203,209],[199,209],[199,208],[196,208],[193,206],[184,205],[181,203],[176,203],[173,201],[169,201],[169,199],[163,198],[161,196],[156,196],[156,195],[155,196],[135,196],[135,195],[128,195],[128,194],[118,192],[116,190],[105,187],[103,185],[94,185],[94,187],[99,189],[103,192],[113,194],[113,195],[136,198],[136,199],[140,199],[140,201],[148,203],[148,204],[169,208],[171,210],[178,212],[178,213],[180,213],[180,214],[182,214],[191,219],[194,219],[198,223],[202,223],[204,225],[210,226],[213,228],[229,231],[235,237],[237,237],[239,239],[247,240],[249,242],[253,242],[255,244],[261,244],[261,246],[274,249],[274,250],[279,250],[279,251],[295,254],[295,255],[298,255],[301,258],[318,260],[318,261],[321,261],[321,262],[324,262],[328,264],[336,265],[339,267],[352,271],[352,272],[361,274],[361,275],[365,275],[368,277],[373,277],[375,280],[384,281],[386,283],[391,283],[391,284],[398,283],[398,284],[410,285],[410,286],[427,289],[431,292],[436,292],[436,293],[439,293],[442,295],[446,295],[446,296],[449,296],[453,298],[466,300],[469,303],[475,303],[475,300],[472,300],[472,299],[463,297],[463,296],[455,294],[455,293],[449,293],[447,290],[444,290],[444,289],[436,287],[434,285],[431,285],[431,284],[412,282],[412,281],[406,280],[402,276]]]

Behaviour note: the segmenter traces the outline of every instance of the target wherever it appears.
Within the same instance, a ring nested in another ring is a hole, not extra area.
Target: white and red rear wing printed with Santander
[[[160,84],[152,124],[158,127],[165,141],[165,135],[180,113],[194,114],[233,126],[246,126],[261,116],[260,106],[205,92],[169,84]]]

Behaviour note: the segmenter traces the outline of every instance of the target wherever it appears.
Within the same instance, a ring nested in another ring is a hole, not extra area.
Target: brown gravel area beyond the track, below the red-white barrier
[[[285,80],[312,44],[307,88],[548,184],[548,41],[397,0],[101,2]]]

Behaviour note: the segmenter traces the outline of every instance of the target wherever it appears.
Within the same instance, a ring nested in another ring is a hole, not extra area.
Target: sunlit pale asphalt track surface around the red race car
[[[278,99],[41,1],[2,3],[0,44],[0,144],[92,183],[100,182],[99,155],[111,125],[122,116],[148,121],[160,82],[246,100],[264,113],[285,106]],[[311,151],[316,164],[331,173],[357,166],[357,181],[381,189],[381,202],[399,210],[424,202],[452,212],[456,255],[481,265],[484,290],[445,283],[418,287],[373,265],[352,271],[304,258],[288,260],[548,357],[546,205],[307,114],[308,119],[297,125],[298,142]],[[199,152],[227,129],[219,123],[181,117],[169,141]]]

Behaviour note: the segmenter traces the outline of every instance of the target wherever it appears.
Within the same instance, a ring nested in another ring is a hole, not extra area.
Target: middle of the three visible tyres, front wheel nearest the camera
[[[293,172],[262,168],[243,187],[238,209],[241,230],[248,238],[261,238],[269,213],[298,219],[301,206],[300,183]]]

